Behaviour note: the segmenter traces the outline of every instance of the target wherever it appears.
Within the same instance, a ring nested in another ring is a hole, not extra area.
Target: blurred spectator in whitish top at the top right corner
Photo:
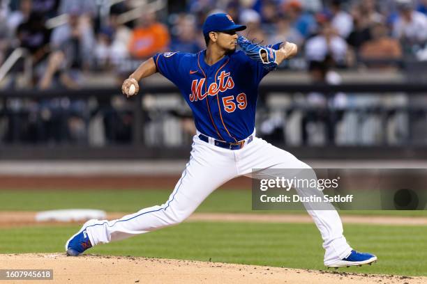
[[[399,16],[393,26],[393,34],[404,50],[412,52],[414,46],[424,46],[427,41],[427,17],[412,8],[410,0],[398,2]]]

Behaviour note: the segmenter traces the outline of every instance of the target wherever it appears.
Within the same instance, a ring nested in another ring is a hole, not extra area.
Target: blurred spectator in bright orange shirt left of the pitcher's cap
[[[135,58],[148,58],[156,52],[164,52],[170,44],[165,25],[157,22],[154,13],[146,13],[138,19],[130,38],[129,52]]]

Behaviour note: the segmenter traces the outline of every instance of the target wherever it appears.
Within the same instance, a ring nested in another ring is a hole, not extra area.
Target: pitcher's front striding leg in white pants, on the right
[[[248,144],[246,148],[239,150],[237,154],[240,175],[251,175],[253,168],[266,169],[268,175],[274,175],[274,171],[271,169],[275,168],[304,169],[305,173],[311,170],[310,166],[294,157],[290,152],[276,148],[258,138],[254,139],[253,143]],[[313,170],[311,172],[313,172],[312,178],[316,178],[315,172]],[[278,175],[280,173],[283,171],[277,171]],[[261,172],[258,172],[258,176],[259,174],[262,175]],[[300,188],[297,189],[297,193],[299,196],[308,194],[306,189]],[[343,235],[343,224],[335,208],[331,205],[330,210],[313,210],[310,203],[304,203],[304,206],[322,235],[325,249],[324,264],[331,265],[350,255],[352,248],[347,244]]]

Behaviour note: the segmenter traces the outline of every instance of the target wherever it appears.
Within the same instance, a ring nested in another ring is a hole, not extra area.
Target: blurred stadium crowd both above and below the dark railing
[[[0,91],[84,89],[93,74],[113,75],[120,86],[157,52],[204,49],[202,23],[216,12],[246,24],[244,36],[256,42],[297,43],[299,55],[280,69],[308,71],[311,81],[339,84],[334,70],[405,72],[406,63],[427,61],[427,0],[0,0]],[[105,86],[103,80],[98,86]],[[289,145],[395,145],[407,143],[408,125],[426,126],[424,110],[418,113],[421,124],[409,122],[404,94],[383,99],[337,93],[329,100],[308,93],[288,99],[270,96],[260,103],[262,136]],[[152,97],[144,97],[146,110],[150,102]],[[194,131],[188,108],[173,97],[157,102],[158,109],[147,111],[144,143],[183,145]],[[390,108],[386,118],[384,104]],[[70,97],[8,99],[0,103],[0,139],[130,143],[131,110],[123,97],[103,107]]]

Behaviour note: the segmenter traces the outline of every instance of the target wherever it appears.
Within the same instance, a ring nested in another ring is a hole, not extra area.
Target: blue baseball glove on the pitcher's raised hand
[[[239,36],[239,38],[237,38],[237,44],[247,56],[262,63],[265,69],[272,71],[277,68],[278,63],[276,62],[276,50],[270,47],[257,45],[244,36]]]

